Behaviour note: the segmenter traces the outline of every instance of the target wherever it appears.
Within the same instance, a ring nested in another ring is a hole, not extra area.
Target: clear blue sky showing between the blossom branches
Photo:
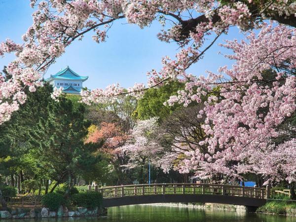
[[[0,0],[0,42],[10,38],[21,43],[21,37],[32,24],[30,0]],[[175,43],[165,43],[157,39],[162,29],[158,22],[150,27],[140,29],[136,25],[126,24],[125,20],[114,23],[108,32],[106,42],[96,43],[91,39],[93,33],[86,35],[82,41],[72,43],[66,53],[57,59],[45,77],[55,74],[66,66],[80,75],[88,75],[83,86],[90,89],[105,88],[111,83],[120,83],[123,87],[135,82],[146,83],[146,73],[161,68],[161,58],[165,55],[174,57],[178,52]],[[223,39],[241,39],[237,28],[231,28],[227,36],[222,36],[205,54],[204,59],[194,64],[189,72],[194,75],[205,74],[206,70],[217,72],[220,66],[233,61],[218,55],[219,51],[228,53],[218,46]],[[14,56],[0,58],[0,69],[13,60]]]

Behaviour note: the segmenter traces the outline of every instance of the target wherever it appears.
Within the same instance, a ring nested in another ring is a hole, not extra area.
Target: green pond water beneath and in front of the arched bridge
[[[296,217],[212,209],[134,205],[108,209],[107,217],[21,220],[24,222],[296,222]],[[11,221],[10,221],[11,222]],[[20,222],[20,220],[13,220]]]

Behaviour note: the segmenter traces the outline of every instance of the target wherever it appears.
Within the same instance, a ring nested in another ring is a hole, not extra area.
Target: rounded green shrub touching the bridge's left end
[[[77,207],[95,208],[102,205],[103,196],[99,192],[81,192],[73,194],[71,197],[72,204]]]

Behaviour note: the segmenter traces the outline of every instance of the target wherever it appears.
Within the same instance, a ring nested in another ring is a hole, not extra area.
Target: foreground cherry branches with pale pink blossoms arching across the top
[[[16,59],[7,65],[8,77],[0,76],[0,123],[10,118],[26,101],[23,89],[35,91],[48,67],[61,56],[68,45],[84,34],[94,32],[93,40],[106,40],[107,32],[115,20],[125,18],[141,28],[159,20],[172,22],[158,38],[177,41],[180,51],[175,59],[163,58],[159,72],[148,73],[148,87],[162,84],[168,79],[186,76],[186,69],[196,63],[216,39],[227,33],[230,26],[246,30],[258,27],[264,19],[296,26],[294,0],[31,0],[33,25],[24,34],[24,43],[7,39],[0,43],[0,55],[15,53]],[[205,38],[216,35],[203,47]],[[119,85],[106,89],[83,91],[83,101],[105,102],[122,94],[138,95],[147,87],[136,83],[124,91]],[[55,90],[53,98],[61,94]]]

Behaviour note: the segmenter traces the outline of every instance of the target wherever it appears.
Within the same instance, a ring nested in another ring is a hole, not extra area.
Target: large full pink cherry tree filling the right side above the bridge
[[[204,161],[193,154],[189,163],[202,169],[196,172],[198,176],[242,178],[242,174],[254,170],[252,158],[256,155],[262,161],[262,156],[270,154],[277,161],[286,158],[282,152],[287,149],[293,156],[293,140],[277,148],[270,147],[270,140],[280,136],[277,128],[296,110],[295,33],[295,29],[271,23],[263,24],[258,35],[250,32],[246,41],[226,41],[222,46],[234,53],[226,55],[235,60],[232,69],[222,67],[221,74],[209,73],[208,77],[190,76],[185,90],[168,100],[169,105],[178,102],[187,106],[212,94],[204,103],[206,119],[202,126],[209,136],[202,143],[209,152]],[[213,86],[220,90],[214,91]],[[290,165],[296,164],[289,159]],[[291,178],[287,176],[288,181]]]

